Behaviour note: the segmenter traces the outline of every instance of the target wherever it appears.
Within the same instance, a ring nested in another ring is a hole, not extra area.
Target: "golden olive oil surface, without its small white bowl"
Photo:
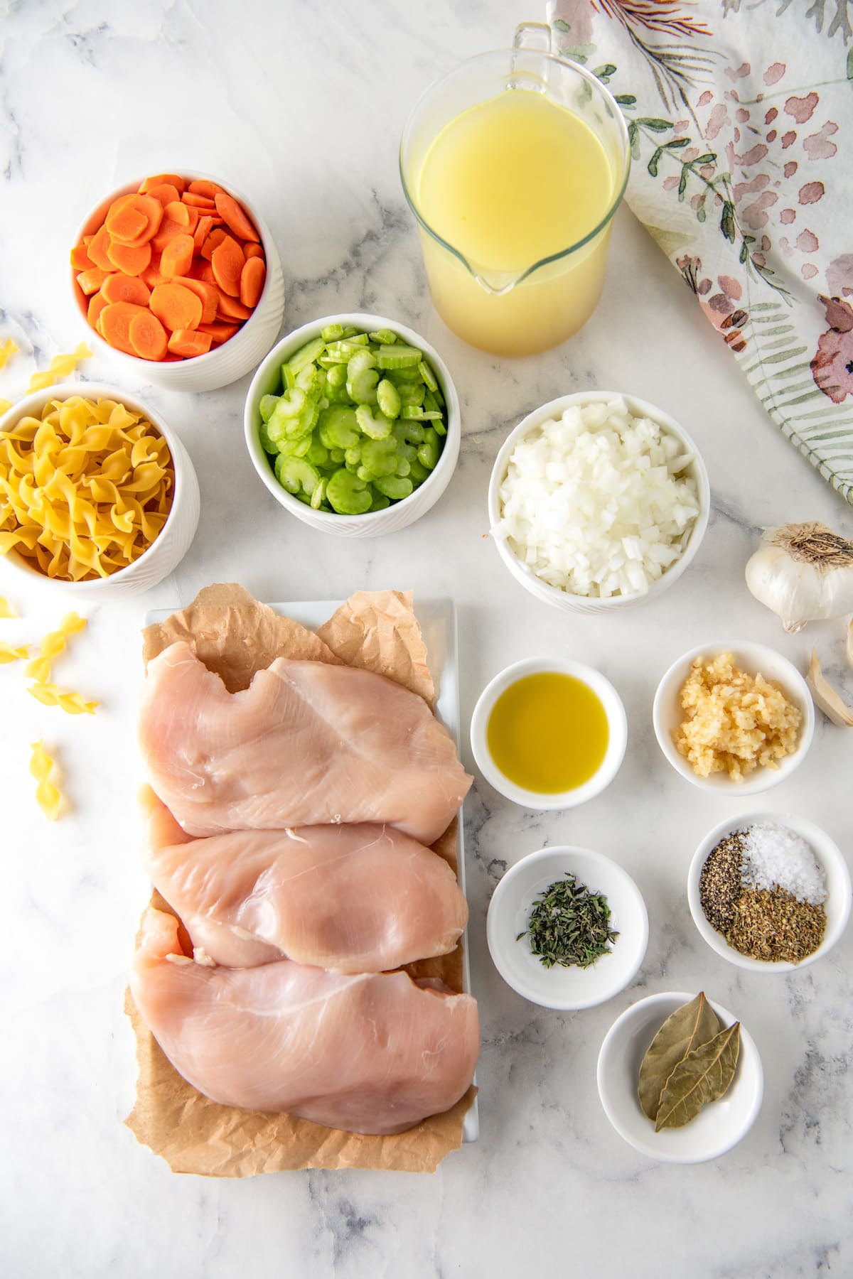
[[[604,762],[610,728],[601,700],[574,675],[524,675],[495,702],[486,742],[509,781],[538,794],[574,790]]]

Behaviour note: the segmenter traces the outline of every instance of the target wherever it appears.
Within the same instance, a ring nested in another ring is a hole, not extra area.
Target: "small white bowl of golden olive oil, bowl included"
[[[471,718],[477,767],[526,808],[574,808],[610,785],[628,720],[609,679],[581,661],[527,657],[486,686]]]

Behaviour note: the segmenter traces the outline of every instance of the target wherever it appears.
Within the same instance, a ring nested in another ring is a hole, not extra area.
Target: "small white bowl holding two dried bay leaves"
[[[619,1136],[668,1164],[702,1164],[732,1150],[763,1096],[755,1040],[701,991],[648,995],[628,1008],[607,1031],[597,1073]]]

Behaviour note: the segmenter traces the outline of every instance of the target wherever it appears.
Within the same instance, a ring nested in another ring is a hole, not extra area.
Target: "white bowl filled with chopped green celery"
[[[252,379],[244,426],[275,500],[340,537],[414,523],[459,455],[459,399],[439,353],[405,325],[362,312],[283,338]]]

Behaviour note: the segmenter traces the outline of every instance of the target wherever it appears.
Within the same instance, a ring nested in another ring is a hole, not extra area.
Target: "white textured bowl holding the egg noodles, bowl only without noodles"
[[[45,407],[51,400],[67,400],[73,395],[81,395],[91,400],[118,400],[132,413],[141,413],[166,441],[174,469],[174,490],[166,522],[148,549],[138,559],[128,564],[127,568],[110,573],[109,577],[97,577],[79,582],[51,578],[46,573],[40,572],[37,567],[31,564],[29,560],[14,549],[0,556],[0,563],[8,564],[10,569],[18,573],[26,573],[31,582],[38,583],[45,591],[61,592],[69,602],[72,596],[77,600],[104,602],[105,600],[138,595],[141,591],[150,590],[168,577],[189,550],[192,540],[196,536],[200,514],[196,471],[184,445],[153,409],[137,399],[136,395],[101,382],[60,382],[56,386],[49,386],[46,390],[26,395],[8,413],[0,417],[0,432],[13,430],[24,417],[41,417]]]

